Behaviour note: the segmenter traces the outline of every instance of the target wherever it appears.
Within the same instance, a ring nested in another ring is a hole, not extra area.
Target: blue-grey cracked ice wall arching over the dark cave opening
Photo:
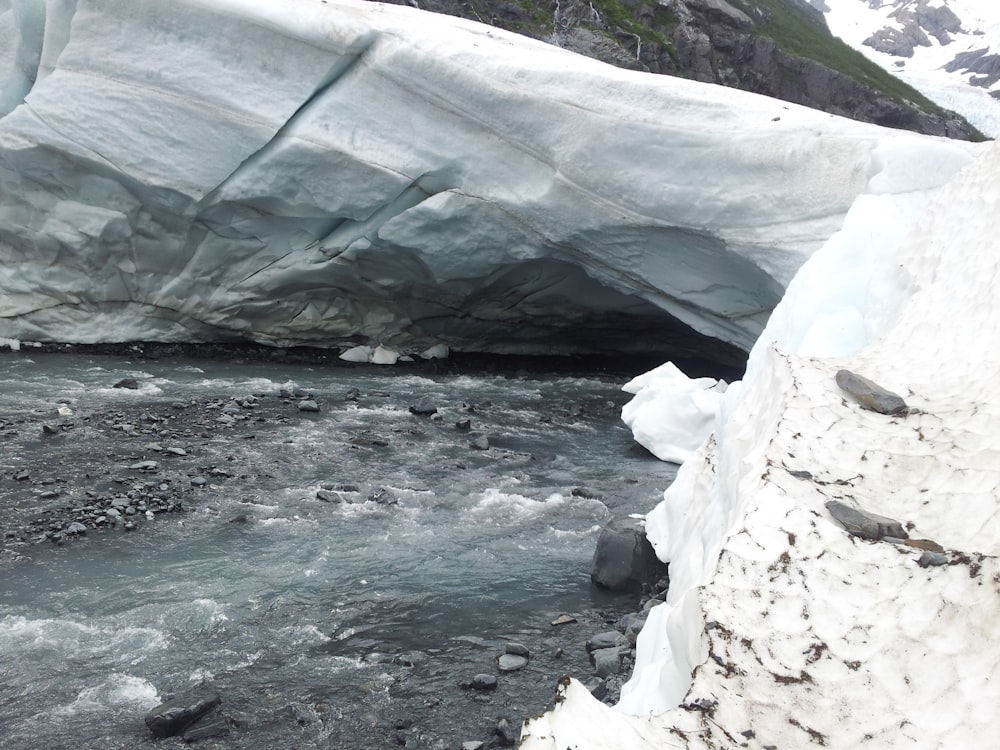
[[[10,339],[746,349],[858,195],[976,152],[351,0],[16,0],[0,41]]]

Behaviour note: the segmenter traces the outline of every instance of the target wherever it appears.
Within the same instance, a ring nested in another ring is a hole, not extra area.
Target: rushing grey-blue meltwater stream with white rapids
[[[140,388],[112,388],[122,377]],[[600,527],[647,510],[672,478],[632,449],[620,383],[0,359],[0,416],[294,386],[323,405],[217,448],[255,471],[212,487],[193,512],[39,545],[0,570],[0,747],[152,746],[145,711],[202,680],[241,725],[218,747],[364,748],[376,745],[344,738],[394,711],[454,718],[468,703],[456,680],[495,672],[495,644],[543,643],[553,616],[601,604],[589,582]],[[410,413],[421,398],[439,418]],[[472,433],[455,428],[463,418]],[[479,433],[490,450],[470,448]],[[324,486],[344,501],[317,499]],[[383,487],[397,504],[366,500]],[[438,746],[476,739],[444,731]]]

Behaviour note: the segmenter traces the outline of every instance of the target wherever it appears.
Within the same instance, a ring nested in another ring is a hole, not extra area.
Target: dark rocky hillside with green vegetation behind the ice
[[[406,3],[407,0],[395,0]],[[833,37],[806,0],[409,0],[624,68],[719,83],[864,122],[981,140]]]

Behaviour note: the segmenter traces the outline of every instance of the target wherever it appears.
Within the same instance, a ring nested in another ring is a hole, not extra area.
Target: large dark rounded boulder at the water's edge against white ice
[[[590,567],[590,580],[612,591],[641,592],[666,572],[646,539],[642,519],[615,518],[601,530]]]

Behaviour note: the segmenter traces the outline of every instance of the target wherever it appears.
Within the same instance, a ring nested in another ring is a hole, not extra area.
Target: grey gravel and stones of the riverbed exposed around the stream
[[[216,356],[239,356],[224,348],[213,351]],[[164,348],[132,352],[140,361],[171,355],[172,350]],[[299,364],[317,365],[328,355],[293,356],[305,359]],[[415,365],[425,370],[456,366]],[[139,384],[124,378],[113,385],[135,390]],[[5,457],[0,469],[0,566],[16,568],[62,554],[56,551],[60,548],[101,545],[123,534],[154,535],[155,539],[164,519],[252,525],[258,521],[255,502],[261,502],[253,493],[248,492],[245,502],[235,509],[219,500],[281,473],[283,454],[268,446],[287,442],[291,438],[284,436],[292,435],[298,422],[316,414],[398,395],[358,388],[345,388],[335,396],[317,395],[308,387],[289,386],[257,392],[220,390],[211,397],[175,400],[133,398],[110,407],[55,399],[34,409],[0,414],[0,447]],[[415,420],[424,421],[408,429],[423,429],[419,425],[425,424],[428,429],[433,425],[452,430],[455,440],[477,459],[492,452],[492,460],[498,462],[532,460],[490,444],[488,431],[479,429],[490,419],[490,405],[440,405],[444,416],[414,395],[409,411]],[[604,418],[620,405],[583,399],[539,414],[539,420],[558,423],[599,414]],[[441,424],[455,413],[463,418]],[[371,452],[405,439],[389,429],[338,436],[347,450]],[[461,471],[464,464],[456,461],[454,468]],[[586,487],[567,487],[566,492],[583,498],[599,495]],[[347,481],[323,484],[315,491],[315,500],[330,505],[384,505],[390,510],[398,502],[392,487]],[[545,707],[564,675],[587,682],[608,702],[617,699],[642,622],[641,613],[635,613],[653,595],[662,596],[662,591],[647,591],[645,597],[596,592],[592,601],[570,611],[541,608],[502,637],[470,634],[451,639],[444,647],[405,652],[387,651],[374,642],[340,634],[315,646],[314,653],[349,655],[362,664],[378,665],[388,675],[384,689],[391,696],[389,713],[377,705],[338,705],[319,695],[289,700],[284,694],[257,694],[235,689],[231,679],[222,679],[207,688],[218,691],[221,705],[188,728],[188,739],[210,747],[256,748],[287,741],[288,728],[293,726],[308,727],[311,736],[332,743],[322,746],[512,745],[521,722]],[[183,697],[189,689],[183,684],[176,688],[161,688],[159,698],[175,693]],[[137,727],[143,714],[136,715]],[[152,734],[143,728],[129,741],[140,740],[151,742]]]

